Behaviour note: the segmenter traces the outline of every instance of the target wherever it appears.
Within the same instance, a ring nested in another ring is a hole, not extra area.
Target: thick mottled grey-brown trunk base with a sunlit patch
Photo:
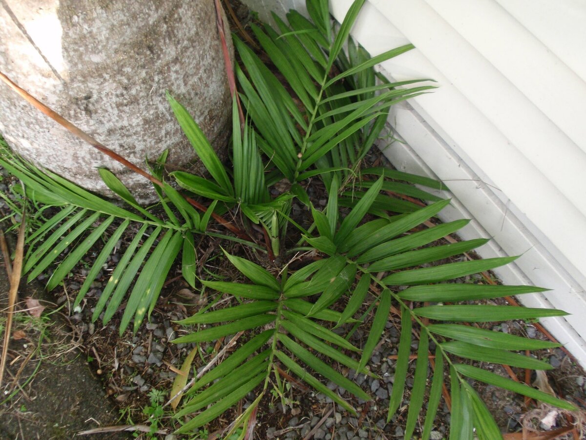
[[[0,0],[0,70],[135,164],[166,148],[171,164],[190,167],[194,158],[165,90],[226,154],[230,93],[213,0]],[[152,197],[147,180],[2,84],[0,133],[18,153],[83,187],[105,194],[95,170],[105,166],[139,199]]]

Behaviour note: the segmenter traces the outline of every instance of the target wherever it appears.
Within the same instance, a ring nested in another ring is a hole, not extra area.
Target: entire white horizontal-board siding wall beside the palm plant
[[[331,2],[338,21],[350,4]],[[496,272],[553,289],[520,299],[573,313],[544,324],[584,366],[585,22],[582,0],[367,0],[353,29],[371,55],[413,43],[381,70],[440,87],[391,110],[391,162],[446,182],[444,219],[493,237],[482,256],[523,254]]]

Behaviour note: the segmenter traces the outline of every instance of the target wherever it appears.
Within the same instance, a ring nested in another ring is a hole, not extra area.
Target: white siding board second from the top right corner
[[[557,133],[563,131],[586,153],[584,80],[495,1],[426,1],[474,50],[485,57],[487,62],[555,124],[550,130],[557,128]],[[586,8],[586,3],[584,5]],[[580,28],[586,28],[584,23]],[[571,32],[571,29],[566,32]],[[583,49],[581,52],[583,53]],[[495,99],[500,96],[502,94],[496,93]],[[511,96],[510,100],[516,100],[516,97]],[[507,104],[501,102],[500,105]],[[541,136],[540,121],[543,118],[538,120],[527,115],[527,119],[529,118],[534,123],[531,127],[526,127],[527,130]],[[523,125],[522,121],[516,119],[512,123]],[[532,143],[532,139],[526,136],[526,130],[518,128],[519,136]],[[546,139],[542,139],[542,143],[546,142]],[[572,151],[567,153],[570,156],[572,154]]]

